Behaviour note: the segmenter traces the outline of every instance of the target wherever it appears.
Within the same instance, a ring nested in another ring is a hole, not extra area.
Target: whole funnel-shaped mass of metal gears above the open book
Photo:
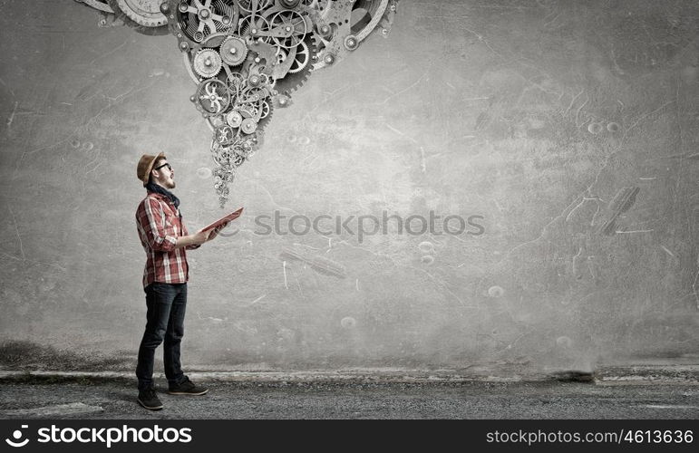
[[[83,0],[140,33],[177,37],[197,83],[190,100],[213,133],[221,206],[274,109],[291,105],[311,72],[339,63],[369,34],[386,36],[398,1]]]

